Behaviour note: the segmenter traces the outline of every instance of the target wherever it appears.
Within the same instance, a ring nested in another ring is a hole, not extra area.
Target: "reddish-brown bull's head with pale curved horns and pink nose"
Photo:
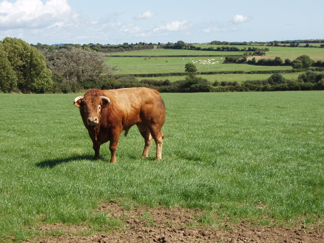
[[[110,99],[106,96],[99,96],[93,93],[85,96],[78,96],[74,99],[74,105],[80,108],[80,113],[90,126],[99,124],[102,108],[110,104]]]

